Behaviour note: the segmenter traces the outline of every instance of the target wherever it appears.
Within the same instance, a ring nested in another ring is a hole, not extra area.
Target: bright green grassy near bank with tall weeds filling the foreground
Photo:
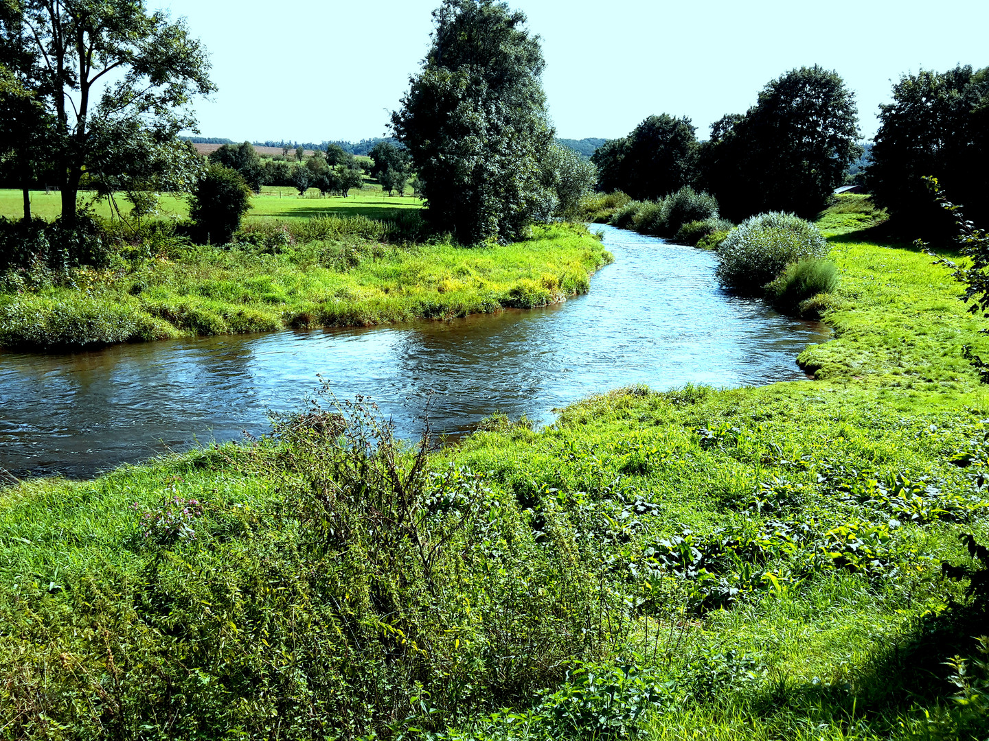
[[[436,451],[328,400],[4,489],[2,733],[984,738],[984,322],[917,250],[830,247],[815,380]]]

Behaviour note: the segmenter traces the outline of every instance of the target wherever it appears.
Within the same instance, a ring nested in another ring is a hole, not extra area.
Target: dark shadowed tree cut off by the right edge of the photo
[[[922,70],[893,86],[893,102],[879,107],[866,186],[876,203],[911,229],[944,238],[952,229],[923,182],[935,177],[944,198],[989,224],[989,67]]]

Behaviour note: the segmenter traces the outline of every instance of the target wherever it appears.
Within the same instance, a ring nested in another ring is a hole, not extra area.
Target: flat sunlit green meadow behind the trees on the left
[[[368,185],[364,190],[351,191],[347,198],[319,196],[319,191],[311,188],[306,197],[300,197],[295,188],[277,188],[263,186],[261,193],[251,199],[251,209],[247,219],[270,218],[310,218],[327,212],[351,213],[363,215],[380,214],[383,209],[419,208],[422,202],[418,199],[405,197],[389,197],[381,193],[380,186]],[[59,194],[52,191],[33,191],[31,194],[32,214],[45,219],[56,218],[61,213]],[[80,195],[79,203],[85,203],[88,197]],[[124,199],[118,199],[118,206],[130,213],[130,204]],[[189,206],[185,199],[163,195],[160,201],[161,217],[178,216],[185,218],[189,215]],[[104,218],[110,218],[112,209],[105,199],[93,204],[93,209]],[[20,218],[24,215],[23,195],[20,191],[0,189],[0,216]]]

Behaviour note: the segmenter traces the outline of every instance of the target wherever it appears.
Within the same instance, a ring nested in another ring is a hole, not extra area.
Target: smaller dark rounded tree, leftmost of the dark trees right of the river
[[[697,138],[690,120],[650,116],[623,139],[612,139],[591,156],[598,188],[634,199],[659,199],[689,185],[696,175]]]

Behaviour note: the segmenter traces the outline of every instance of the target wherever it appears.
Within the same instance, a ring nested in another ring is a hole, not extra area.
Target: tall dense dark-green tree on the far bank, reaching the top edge
[[[426,218],[462,243],[520,239],[546,191],[553,141],[539,38],[494,0],[443,0],[392,127],[422,176]]]

